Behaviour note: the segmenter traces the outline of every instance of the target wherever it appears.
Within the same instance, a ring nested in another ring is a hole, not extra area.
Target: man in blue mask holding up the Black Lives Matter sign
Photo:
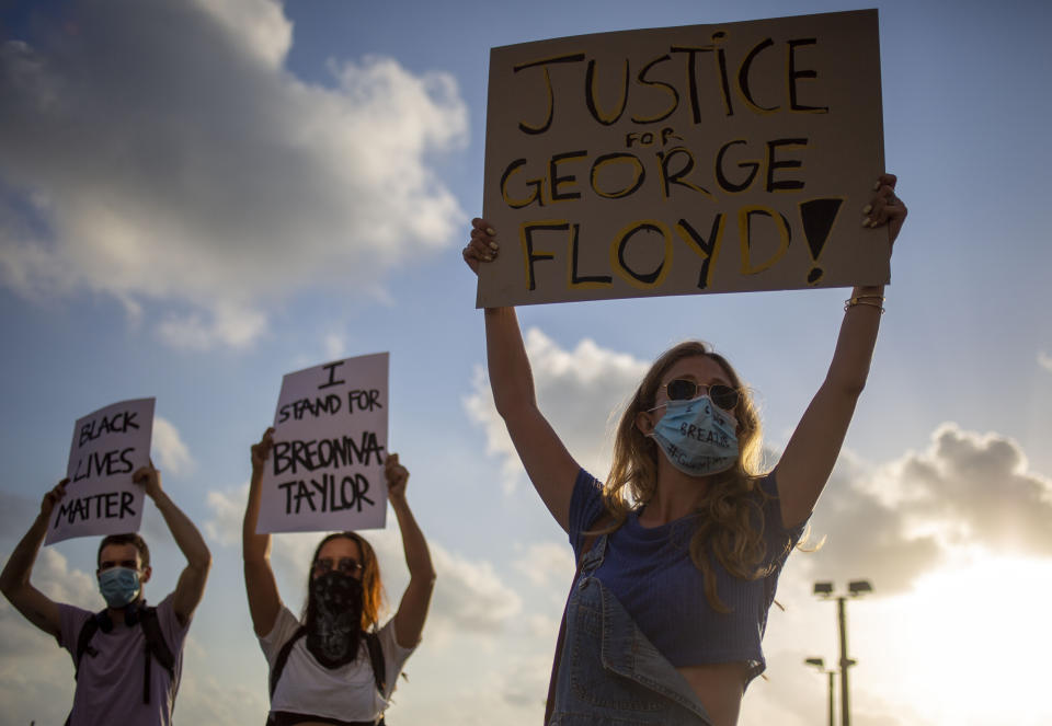
[[[197,528],[161,488],[152,464],[135,472],[164,517],[187,564],[175,591],[146,604],[150,551],[138,534],[111,534],[99,545],[99,591],[105,610],[92,613],[54,602],[30,584],[55,505],[66,496],[62,480],[44,496],[41,514],[0,574],[0,590],[30,622],[69,650],[77,689],[67,726],[170,726],[190,621],[205,591],[211,555]]]

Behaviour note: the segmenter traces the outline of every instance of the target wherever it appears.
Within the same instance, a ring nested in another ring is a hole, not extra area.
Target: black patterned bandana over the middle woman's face
[[[330,571],[310,583],[307,603],[307,649],[325,668],[339,668],[358,656],[362,642],[362,583]]]

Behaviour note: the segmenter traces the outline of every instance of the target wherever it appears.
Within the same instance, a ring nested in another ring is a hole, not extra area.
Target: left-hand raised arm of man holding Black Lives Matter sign
[[[8,564],[3,566],[3,573],[0,573],[0,590],[3,591],[3,596],[31,623],[55,637],[58,637],[61,629],[58,604],[33,587],[30,584],[30,576],[33,574],[36,553],[41,551],[41,545],[44,543],[52,510],[56,503],[66,496],[66,484],[68,483],[69,480],[64,479],[44,495],[44,500],[41,503],[41,514],[36,516],[30,531],[14,548],[14,552],[8,558]]]

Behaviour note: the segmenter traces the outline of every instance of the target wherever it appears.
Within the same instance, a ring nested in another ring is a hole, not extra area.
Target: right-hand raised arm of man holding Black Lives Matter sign
[[[142,486],[146,495],[153,500],[172,533],[172,539],[186,557],[186,566],[179,576],[172,599],[175,616],[185,625],[205,595],[205,583],[208,581],[208,571],[211,568],[211,553],[190,517],[183,514],[161,488],[161,472],[153,468],[152,462],[149,466],[136,471],[132,480]]]

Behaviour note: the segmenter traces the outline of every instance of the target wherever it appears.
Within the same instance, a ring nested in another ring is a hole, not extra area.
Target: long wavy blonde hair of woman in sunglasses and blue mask
[[[697,523],[689,543],[690,558],[701,572],[709,604],[718,612],[730,612],[717,592],[711,558],[716,557],[730,574],[742,579],[764,575],[759,567],[766,554],[761,505],[766,495],[757,486],[763,437],[759,413],[748,389],[727,359],[706,343],[685,341],[666,350],[651,366],[621,414],[614,441],[614,462],[603,487],[604,503],[614,522],[596,531],[614,531],[625,523],[633,508],[653,497],[661,452],[654,440],[636,425],[636,418],[654,407],[658,387],[670,368],[684,358],[699,356],[716,361],[739,391],[733,411],[737,419],[739,458],[734,466],[709,479],[705,497],[695,512]],[[756,521],[758,528],[754,525]]]

